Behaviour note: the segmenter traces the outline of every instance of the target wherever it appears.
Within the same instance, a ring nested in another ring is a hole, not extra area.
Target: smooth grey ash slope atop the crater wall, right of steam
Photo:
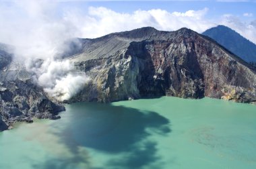
[[[108,34],[96,39],[79,39],[83,45],[73,57],[76,57],[76,60],[107,58],[121,50],[126,50],[131,42],[166,40],[168,35],[168,32],[159,32],[154,27],[143,27],[132,31]]]

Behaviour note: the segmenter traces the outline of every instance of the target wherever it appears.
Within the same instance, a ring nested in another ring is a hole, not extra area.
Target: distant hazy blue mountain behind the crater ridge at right
[[[240,56],[243,60],[256,62],[256,45],[229,27],[218,25],[206,30],[203,35],[216,40],[216,42]]]

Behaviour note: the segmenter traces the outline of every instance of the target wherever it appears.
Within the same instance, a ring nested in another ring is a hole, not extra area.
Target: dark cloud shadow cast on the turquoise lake
[[[68,120],[55,123],[61,123],[64,127],[54,134],[60,137],[60,144],[64,144],[73,157],[49,159],[44,165],[35,165],[35,168],[75,168],[78,163],[94,168],[90,159],[96,157],[90,153],[81,156],[81,147],[100,152],[108,158],[113,156],[104,168],[161,165],[157,142],[147,138],[155,134],[165,136],[171,132],[170,121],[165,117],[152,111],[111,104],[73,103],[66,108]]]

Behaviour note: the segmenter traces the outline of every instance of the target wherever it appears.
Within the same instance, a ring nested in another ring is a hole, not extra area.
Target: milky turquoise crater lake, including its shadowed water
[[[256,105],[140,99],[66,105],[0,133],[0,168],[256,168]]]

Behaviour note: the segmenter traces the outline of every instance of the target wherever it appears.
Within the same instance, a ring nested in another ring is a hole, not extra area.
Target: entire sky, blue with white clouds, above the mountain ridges
[[[143,26],[201,33],[220,24],[256,43],[256,1],[0,0],[0,24],[6,43],[96,38]]]

